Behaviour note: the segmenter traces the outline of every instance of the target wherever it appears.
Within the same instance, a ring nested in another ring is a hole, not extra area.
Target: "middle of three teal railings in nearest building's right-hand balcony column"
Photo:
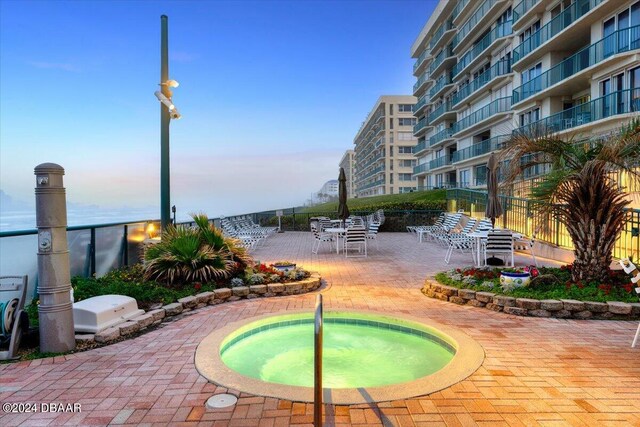
[[[554,65],[513,91],[513,103],[527,99],[606,58],[640,49],[640,25],[618,30]]]

